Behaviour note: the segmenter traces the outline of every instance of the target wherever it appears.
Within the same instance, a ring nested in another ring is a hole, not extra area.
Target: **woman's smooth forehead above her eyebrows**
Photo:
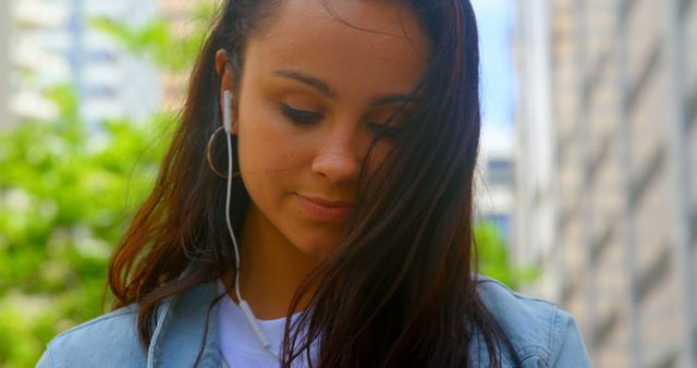
[[[264,32],[248,40],[245,70],[311,73],[340,95],[355,84],[364,90],[409,90],[428,54],[416,14],[396,2],[285,0]]]

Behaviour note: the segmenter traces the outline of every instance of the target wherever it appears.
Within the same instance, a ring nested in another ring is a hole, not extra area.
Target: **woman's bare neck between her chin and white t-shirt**
[[[285,317],[298,286],[319,261],[301,252],[250,206],[240,238],[240,294],[259,319]],[[231,272],[230,278],[234,274]],[[230,293],[236,300],[234,291]],[[297,305],[307,307],[310,294]],[[236,300],[237,303],[240,300]]]

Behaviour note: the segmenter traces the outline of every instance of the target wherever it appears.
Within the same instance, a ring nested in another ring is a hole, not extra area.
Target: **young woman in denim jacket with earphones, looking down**
[[[114,311],[41,367],[585,367],[573,319],[476,275],[463,0],[229,0]]]

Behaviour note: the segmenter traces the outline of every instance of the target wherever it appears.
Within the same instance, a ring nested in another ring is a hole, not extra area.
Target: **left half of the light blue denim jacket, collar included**
[[[191,367],[204,342],[200,363],[217,367],[217,324],[208,328],[209,317],[216,320],[216,283],[199,284],[158,305],[147,352],[138,336],[138,306],[133,304],[59,334],[37,367]]]

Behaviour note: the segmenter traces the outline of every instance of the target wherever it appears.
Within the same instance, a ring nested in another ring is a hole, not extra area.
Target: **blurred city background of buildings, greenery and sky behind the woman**
[[[697,367],[697,0],[472,2],[481,271],[596,367]],[[217,4],[0,0],[0,367],[101,314]]]

